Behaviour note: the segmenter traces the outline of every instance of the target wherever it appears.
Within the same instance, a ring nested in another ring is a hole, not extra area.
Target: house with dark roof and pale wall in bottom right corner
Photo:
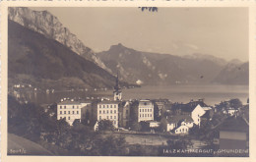
[[[249,125],[243,118],[228,117],[218,129],[220,149],[249,148]]]

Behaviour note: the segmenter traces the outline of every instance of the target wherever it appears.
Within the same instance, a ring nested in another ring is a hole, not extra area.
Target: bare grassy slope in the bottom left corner
[[[8,134],[8,155],[52,155],[41,145],[24,137]]]

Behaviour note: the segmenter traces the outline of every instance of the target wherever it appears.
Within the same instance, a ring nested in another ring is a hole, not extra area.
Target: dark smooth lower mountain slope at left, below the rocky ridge
[[[9,21],[9,84],[37,87],[112,87],[115,78],[56,40]],[[121,82],[122,84],[125,84]]]

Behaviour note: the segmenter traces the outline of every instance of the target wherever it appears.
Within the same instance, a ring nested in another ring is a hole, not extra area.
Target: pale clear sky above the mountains
[[[95,52],[122,43],[139,51],[172,55],[201,53],[248,61],[245,8],[73,7],[47,10]]]

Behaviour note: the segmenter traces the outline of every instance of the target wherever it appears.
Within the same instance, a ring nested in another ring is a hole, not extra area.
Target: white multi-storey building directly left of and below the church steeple
[[[97,103],[97,121],[109,120],[113,126],[118,128],[118,101],[101,101]]]

